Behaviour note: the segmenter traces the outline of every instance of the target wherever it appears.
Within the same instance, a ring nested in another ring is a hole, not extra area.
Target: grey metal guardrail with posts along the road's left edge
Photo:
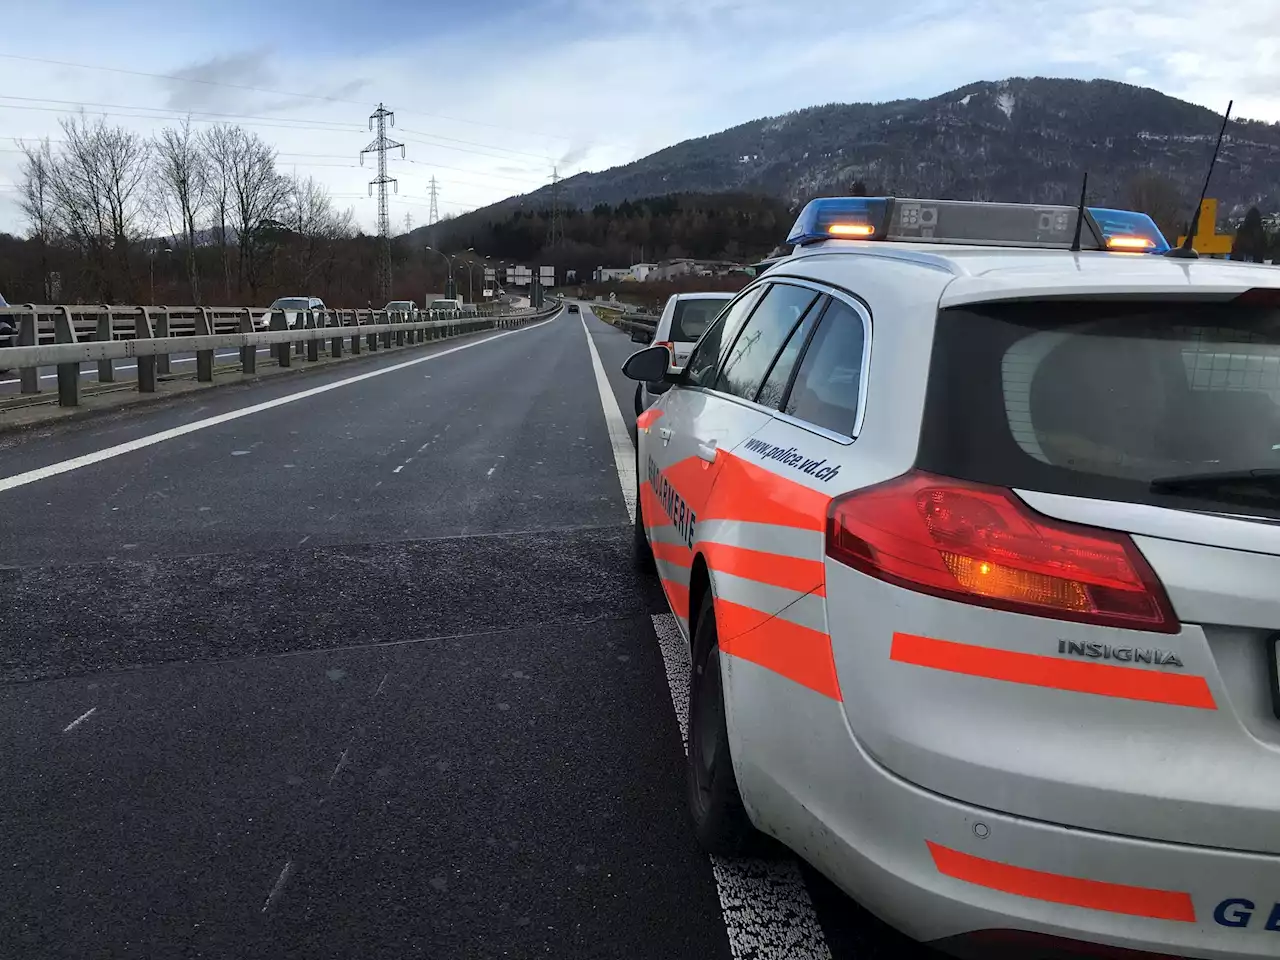
[[[320,347],[329,342],[329,356],[340,357],[347,338],[351,352],[362,346],[376,351],[406,343],[458,337],[479,330],[507,329],[539,320],[559,310],[557,303],[543,310],[521,310],[500,315],[453,312],[447,316],[426,311],[385,310],[306,310],[296,312],[288,325],[284,311],[253,307],[146,307],[146,306],[40,306],[27,303],[0,308],[0,323],[15,329],[10,339],[17,346],[0,346],[0,369],[17,369],[20,396],[40,393],[41,366],[58,369],[58,402],[79,406],[79,365],[97,361],[99,383],[114,383],[115,360],[137,360],[140,393],[155,393],[157,376],[169,372],[170,353],[196,355],[196,379],[214,379],[214,351],[239,348],[241,371],[257,371],[257,348],[273,347],[279,366],[291,366],[292,357],[320,358]],[[262,329],[264,314],[270,326]],[[435,316],[436,319],[428,319]],[[255,319],[256,317],[256,319]],[[0,406],[3,410],[3,406]]]

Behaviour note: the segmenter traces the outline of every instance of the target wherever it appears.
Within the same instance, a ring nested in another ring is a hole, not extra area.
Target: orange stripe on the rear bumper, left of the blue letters
[[[1032,870],[963,854],[932,841],[925,844],[938,873],[979,887],[1088,910],[1196,923],[1196,905],[1190,893]]]

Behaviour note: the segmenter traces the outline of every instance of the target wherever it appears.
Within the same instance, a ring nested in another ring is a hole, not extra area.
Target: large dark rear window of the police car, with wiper
[[[943,310],[918,466],[1001,486],[1274,517],[1280,479],[1230,475],[1280,471],[1277,404],[1275,307],[1044,301]]]

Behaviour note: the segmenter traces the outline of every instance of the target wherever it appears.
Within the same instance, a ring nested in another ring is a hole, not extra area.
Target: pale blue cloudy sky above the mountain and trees
[[[1097,77],[1280,122],[1276,0],[0,0],[0,230],[17,141],[79,109],[155,133],[242,123],[366,230],[369,115],[404,143],[393,232],[759,116]],[[55,142],[56,147],[56,142]],[[408,219],[407,219],[408,218]]]

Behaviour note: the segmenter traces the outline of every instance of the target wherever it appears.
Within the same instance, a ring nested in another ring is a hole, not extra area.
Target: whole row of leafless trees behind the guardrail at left
[[[10,300],[140,302],[163,253],[170,296],[256,302],[264,287],[332,279],[339,246],[356,239],[349,209],[314,178],[282,174],[274,147],[242,127],[183,123],[147,138],[83,114],[60,127],[56,141],[20,145],[35,250],[6,244]]]

